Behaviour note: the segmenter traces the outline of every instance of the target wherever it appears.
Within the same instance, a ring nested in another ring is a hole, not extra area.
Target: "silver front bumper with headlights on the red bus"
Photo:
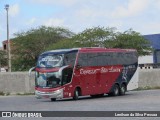
[[[35,91],[35,95],[37,99],[41,98],[63,98],[63,89],[59,89],[53,92],[42,92],[42,91]]]

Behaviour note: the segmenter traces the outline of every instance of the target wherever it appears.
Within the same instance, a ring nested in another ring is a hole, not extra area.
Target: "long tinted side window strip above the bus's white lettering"
[[[78,59],[81,66],[129,65],[136,62],[135,52],[81,53]]]

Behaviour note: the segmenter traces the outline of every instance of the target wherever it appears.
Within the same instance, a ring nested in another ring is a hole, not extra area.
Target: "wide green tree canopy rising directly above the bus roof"
[[[116,32],[116,28],[93,27],[86,29],[72,38],[51,45],[49,49],[73,47],[106,47],[136,49],[138,55],[148,55],[152,49],[148,40],[132,29]]]

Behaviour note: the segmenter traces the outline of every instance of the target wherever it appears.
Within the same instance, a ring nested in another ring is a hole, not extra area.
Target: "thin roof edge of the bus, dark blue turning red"
[[[120,48],[100,48],[100,47],[88,47],[88,48],[71,48],[71,49],[58,49],[58,50],[51,50],[42,53],[41,55],[45,54],[65,54],[70,52],[79,51],[81,53],[87,52],[136,52],[135,49],[120,49]]]

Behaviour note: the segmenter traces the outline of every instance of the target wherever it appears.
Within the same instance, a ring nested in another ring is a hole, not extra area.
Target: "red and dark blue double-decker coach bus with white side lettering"
[[[35,67],[37,98],[124,95],[138,65],[134,49],[74,48],[42,53]]]

